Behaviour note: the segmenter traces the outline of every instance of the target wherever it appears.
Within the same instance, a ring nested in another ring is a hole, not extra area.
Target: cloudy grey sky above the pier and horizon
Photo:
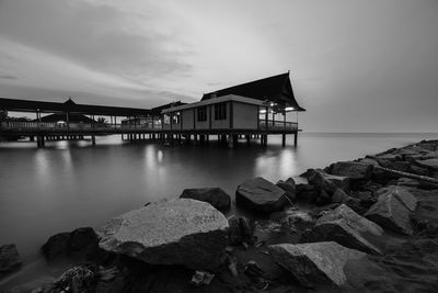
[[[306,132],[438,132],[438,0],[0,0],[0,97],[152,108],[290,70]]]

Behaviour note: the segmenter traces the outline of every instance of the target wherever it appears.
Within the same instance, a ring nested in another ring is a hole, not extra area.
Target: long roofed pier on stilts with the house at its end
[[[122,135],[130,142],[152,139],[169,144],[208,144],[217,136],[232,148],[239,139],[287,135],[298,144],[298,112],[306,111],[295,100],[289,72],[204,94],[195,103],[169,103],[153,109],[64,103],[0,98],[0,111],[34,113],[36,120],[0,122],[0,137],[28,137],[44,147],[48,140]],[[291,112],[297,113],[292,121]],[[43,116],[44,115],[44,116]],[[100,117],[96,120],[96,117]],[[110,117],[110,121],[102,120]]]

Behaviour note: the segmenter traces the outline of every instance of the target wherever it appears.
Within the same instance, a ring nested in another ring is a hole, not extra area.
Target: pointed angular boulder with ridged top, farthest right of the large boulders
[[[411,215],[417,206],[416,198],[401,187],[379,191],[380,196],[366,217],[393,232],[412,235]]]

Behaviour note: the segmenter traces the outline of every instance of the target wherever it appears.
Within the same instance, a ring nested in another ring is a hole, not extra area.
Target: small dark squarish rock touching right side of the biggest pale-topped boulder
[[[228,241],[230,245],[240,245],[242,243],[252,244],[254,241],[254,221],[244,217],[232,215],[228,218],[230,226],[228,230]]]

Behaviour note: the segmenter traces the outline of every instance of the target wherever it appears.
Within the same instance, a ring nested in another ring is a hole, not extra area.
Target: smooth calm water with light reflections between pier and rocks
[[[308,168],[355,159],[438,134],[302,134],[299,146],[268,147],[256,142],[235,149],[216,144],[174,146],[122,142],[119,136],[90,142],[0,143],[0,244],[14,243],[24,261],[53,234],[79,226],[100,227],[106,219],[185,188],[237,185],[256,176],[272,181]]]

